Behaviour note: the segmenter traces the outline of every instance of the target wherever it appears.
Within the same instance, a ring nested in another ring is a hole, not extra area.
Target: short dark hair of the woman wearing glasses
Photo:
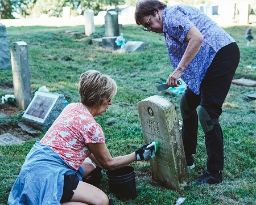
[[[156,10],[163,10],[167,5],[158,0],[142,0],[136,5],[136,10],[134,13],[135,22],[141,25],[144,16],[154,15]]]

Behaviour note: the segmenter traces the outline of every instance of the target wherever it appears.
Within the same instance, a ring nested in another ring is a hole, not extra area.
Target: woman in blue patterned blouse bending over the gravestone
[[[158,0],[137,3],[135,20],[148,31],[164,33],[174,71],[166,83],[187,84],[181,96],[182,138],[188,168],[194,168],[198,118],[205,133],[207,169],[196,183],[222,182],[224,144],[218,118],[228,94],[240,51],[234,39],[199,9],[188,5],[167,7]],[[198,107],[198,114],[197,114]]]

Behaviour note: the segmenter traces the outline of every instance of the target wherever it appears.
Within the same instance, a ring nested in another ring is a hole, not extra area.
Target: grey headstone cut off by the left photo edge
[[[0,23],[0,69],[9,69],[11,67],[9,54],[6,27]]]

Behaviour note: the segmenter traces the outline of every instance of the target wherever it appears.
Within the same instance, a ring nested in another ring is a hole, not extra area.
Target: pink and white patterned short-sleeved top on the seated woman
[[[51,147],[78,170],[91,153],[87,143],[105,143],[105,137],[89,110],[81,103],[72,103],[64,108],[40,143]]]

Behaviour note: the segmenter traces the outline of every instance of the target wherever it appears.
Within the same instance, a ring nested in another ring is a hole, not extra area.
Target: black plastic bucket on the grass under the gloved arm
[[[106,172],[106,180],[110,193],[119,200],[135,199],[137,197],[135,170],[132,166],[124,166]]]

